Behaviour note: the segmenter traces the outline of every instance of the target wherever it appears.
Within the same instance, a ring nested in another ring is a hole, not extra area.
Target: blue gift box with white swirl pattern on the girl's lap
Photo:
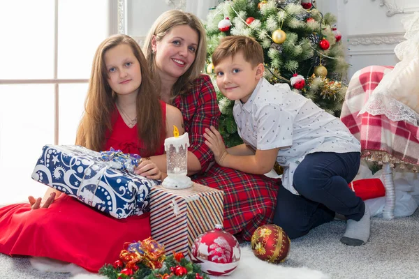
[[[32,179],[122,219],[149,211],[160,181],[113,169],[101,153],[76,145],[45,145]]]

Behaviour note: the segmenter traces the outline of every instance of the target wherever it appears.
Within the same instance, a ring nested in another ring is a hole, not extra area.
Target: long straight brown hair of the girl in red
[[[105,39],[96,50],[75,144],[94,151],[105,148],[105,134],[107,130],[112,131],[111,117],[117,99],[117,94],[108,85],[105,52],[123,43],[131,47],[141,67],[142,82],[136,99],[138,137],[144,143],[140,156],[152,156],[165,135],[162,110],[144,54],[133,38],[122,34]]]

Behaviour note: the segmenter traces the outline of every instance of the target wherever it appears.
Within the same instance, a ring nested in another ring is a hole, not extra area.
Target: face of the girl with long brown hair
[[[118,95],[137,94],[142,77],[140,62],[127,44],[107,50],[104,55],[108,84]]]

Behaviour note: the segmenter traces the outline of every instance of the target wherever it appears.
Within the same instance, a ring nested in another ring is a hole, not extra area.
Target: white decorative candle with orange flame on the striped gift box
[[[168,176],[161,185],[170,189],[184,189],[192,186],[188,174],[188,133],[179,136],[179,130],[173,126],[173,137],[164,141],[167,158]]]

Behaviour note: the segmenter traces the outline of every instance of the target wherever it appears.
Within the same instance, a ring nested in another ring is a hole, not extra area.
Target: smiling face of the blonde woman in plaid
[[[198,33],[189,25],[173,27],[160,41],[152,39],[161,76],[177,79],[191,67],[198,50]]]

